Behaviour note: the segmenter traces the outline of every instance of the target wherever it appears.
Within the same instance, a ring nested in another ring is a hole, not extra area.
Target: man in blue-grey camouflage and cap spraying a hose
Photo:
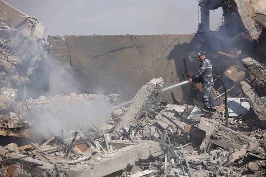
[[[210,61],[206,58],[206,54],[203,51],[199,51],[197,53],[197,57],[199,59],[200,68],[199,71],[194,74],[191,78],[189,78],[189,83],[195,82],[195,83],[202,83],[202,94],[203,94],[203,105],[205,107],[206,112],[205,115],[202,115],[202,117],[211,117],[210,111],[215,111],[215,109],[212,108],[212,105],[210,103],[210,94],[212,87],[214,85],[213,83],[213,68]]]

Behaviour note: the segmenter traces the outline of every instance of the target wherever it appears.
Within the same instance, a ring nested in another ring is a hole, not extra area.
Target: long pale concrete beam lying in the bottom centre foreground
[[[119,141],[120,142],[120,141]],[[141,159],[147,159],[149,156],[161,155],[160,144],[155,141],[141,140],[136,141],[130,146],[115,150],[112,153],[101,155],[101,160],[91,159],[89,164],[77,165],[72,168],[82,176],[106,176],[119,170],[132,166]]]

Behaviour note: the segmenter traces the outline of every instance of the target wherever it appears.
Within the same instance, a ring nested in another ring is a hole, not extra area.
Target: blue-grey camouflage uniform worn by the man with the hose
[[[207,58],[204,58],[200,64],[199,71],[191,77],[192,81],[202,83],[203,104],[205,109],[211,108],[210,94],[213,83],[213,68],[212,64]]]

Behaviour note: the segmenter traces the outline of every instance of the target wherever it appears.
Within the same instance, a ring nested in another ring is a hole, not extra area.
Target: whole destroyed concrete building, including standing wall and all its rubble
[[[0,176],[265,176],[265,0],[200,0],[191,34],[47,40],[0,7]],[[197,51],[221,79],[210,119],[201,84],[166,89]]]

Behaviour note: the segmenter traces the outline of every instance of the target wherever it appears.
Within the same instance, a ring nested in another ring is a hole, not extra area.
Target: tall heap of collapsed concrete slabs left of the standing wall
[[[10,100],[26,98],[27,91],[31,96],[43,91],[45,83],[40,84],[43,79],[38,77],[38,72],[46,64],[49,47],[49,42],[42,38],[45,29],[46,27],[33,17],[27,17],[15,27],[3,18],[0,19],[1,112],[8,109]],[[45,77],[45,73],[41,74]],[[14,92],[14,95],[8,95],[7,90]]]

